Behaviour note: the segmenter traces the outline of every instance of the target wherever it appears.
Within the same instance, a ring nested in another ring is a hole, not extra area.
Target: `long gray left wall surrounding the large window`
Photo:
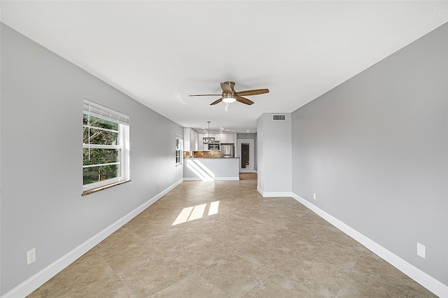
[[[83,98],[130,115],[132,179],[86,197]],[[0,123],[0,295],[182,178],[182,127],[3,24]]]

